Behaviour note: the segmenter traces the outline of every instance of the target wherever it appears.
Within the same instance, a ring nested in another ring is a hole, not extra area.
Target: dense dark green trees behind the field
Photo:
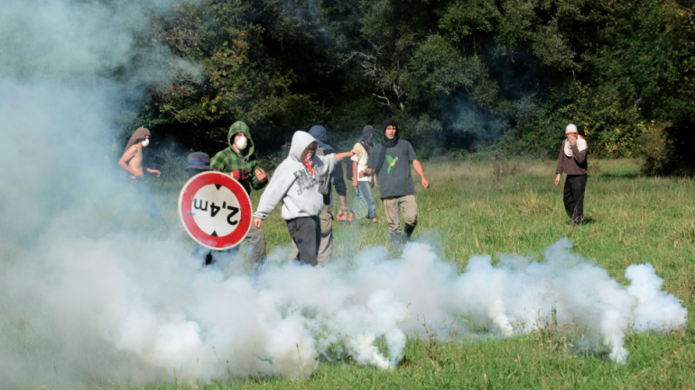
[[[243,120],[267,153],[394,116],[421,159],[554,153],[576,122],[593,153],[636,156],[644,134],[692,128],[693,23],[691,0],[183,3],[143,37],[198,72],[152,86],[137,121],[214,151]]]

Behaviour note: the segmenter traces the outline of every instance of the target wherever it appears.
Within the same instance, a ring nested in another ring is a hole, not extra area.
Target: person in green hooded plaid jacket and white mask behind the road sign
[[[255,159],[254,141],[251,139],[251,131],[245,122],[234,122],[227,134],[229,147],[221,150],[210,161],[210,169],[227,173],[234,177],[244,189],[251,195],[251,188],[256,191],[268,184],[268,177]],[[258,275],[263,270],[267,249],[265,236],[262,230],[253,224],[246,235],[249,252],[249,268],[252,276]],[[235,250],[229,249],[229,250]]]

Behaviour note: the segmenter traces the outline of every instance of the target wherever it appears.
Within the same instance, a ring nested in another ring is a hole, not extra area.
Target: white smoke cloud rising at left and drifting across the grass
[[[51,383],[53,362],[60,385],[144,383],[174,367],[187,380],[297,378],[321,354],[393,367],[406,334],[422,329],[419,315],[431,323],[466,315],[505,336],[533,331],[554,309],[559,322],[598,335],[616,361],[627,357],[631,326],[685,327],[685,309],[650,265],[627,268],[632,285],[622,286],[566,239],[541,263],[509,256],[494,267],[476,256],[461,275],[412,243],[395,260],[365,249],[354,267],[271,258],[253,281],[200,268],[176,240],[94,238],[115,200],[109,118],[163,72],[146,54],[133,66],[134,32],[169,3],[0,4],[0,386]],[[125,69],[117,82],[104,76],[114,68]]]

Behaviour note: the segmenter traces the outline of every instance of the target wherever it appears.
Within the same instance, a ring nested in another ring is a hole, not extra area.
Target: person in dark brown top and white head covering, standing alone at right
[[[587,187],[587,141],[579,135],[574,124],[567,125],[565,137],[560,148],[558,168],[555,169],[555,186],[560,185],[562,172],[567,174],[563,196],[565,212],[572,226],[580,226],[584,222],[584,190]]]

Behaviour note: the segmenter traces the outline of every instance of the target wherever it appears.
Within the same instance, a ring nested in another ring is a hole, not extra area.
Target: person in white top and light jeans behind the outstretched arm
[[[376,223],[376,211],[374,207],[374,195],[372,195],[372,188],[378,183],[375,176],[363,176],[358,177],[359,172],[366,169],[366,162],[369,159],[369,154],[374,148],[374,127],[371,125],[366,125],[362,129],[362,139],[359,140],[352,148],[357,150],[357,155],[351,157],[352,160],[352,187],[359,191],[359,195],[365,200],[367,207],[366,217],[372,220],[372,223]],[[352,223],[355,219],[355,204],[350,209],[350,215],[347,217],[347,224]]]

